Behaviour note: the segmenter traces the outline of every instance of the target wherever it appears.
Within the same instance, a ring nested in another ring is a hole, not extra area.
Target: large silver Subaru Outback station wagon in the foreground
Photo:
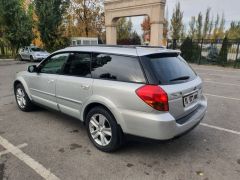
[[[163,48],[68,47],[18,73],[14,91],[22,111],[42,105],[83,121],[105,152],[125,135],[172,139],[207,109],[200,77],[178,51]]]

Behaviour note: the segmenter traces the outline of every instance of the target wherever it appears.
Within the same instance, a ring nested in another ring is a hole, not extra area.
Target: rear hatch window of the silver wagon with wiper
[[[161,85],[188,82],[196,78],[196,73],[177,54],[152,54],[145,56],[150,69]]]

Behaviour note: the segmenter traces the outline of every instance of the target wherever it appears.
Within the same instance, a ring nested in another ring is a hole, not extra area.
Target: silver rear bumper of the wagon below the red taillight
[[[155,140],[168,140],[180,136],[195,126],[204,118],[207,110],[207,100],[202,96],[198,108],[181,119],[174,119],[170,113],[150,114],[142,112],[122,112],[125,120],[124,133]]]

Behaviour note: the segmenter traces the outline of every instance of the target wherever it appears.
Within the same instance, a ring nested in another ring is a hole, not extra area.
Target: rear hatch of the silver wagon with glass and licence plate
[[[199,106],[202,81],[178,53],[141,57],[150,84],[158,84],[168,95],[169,112],[182,118]]]

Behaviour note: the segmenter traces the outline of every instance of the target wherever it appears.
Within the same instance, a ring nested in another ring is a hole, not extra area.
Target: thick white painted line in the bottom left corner
[[[32,159],[29,155],[25,154],[18,147],[14,146],[8,140],[0,136],[0,145],[2,145],[6,150],[16,156],[18,159],[23,161],[26,165],[32,168],[36,173],[42,176],[46,180],[59,180],[57,176],[52,174],[50,170],[47,170],[43,165]]]

